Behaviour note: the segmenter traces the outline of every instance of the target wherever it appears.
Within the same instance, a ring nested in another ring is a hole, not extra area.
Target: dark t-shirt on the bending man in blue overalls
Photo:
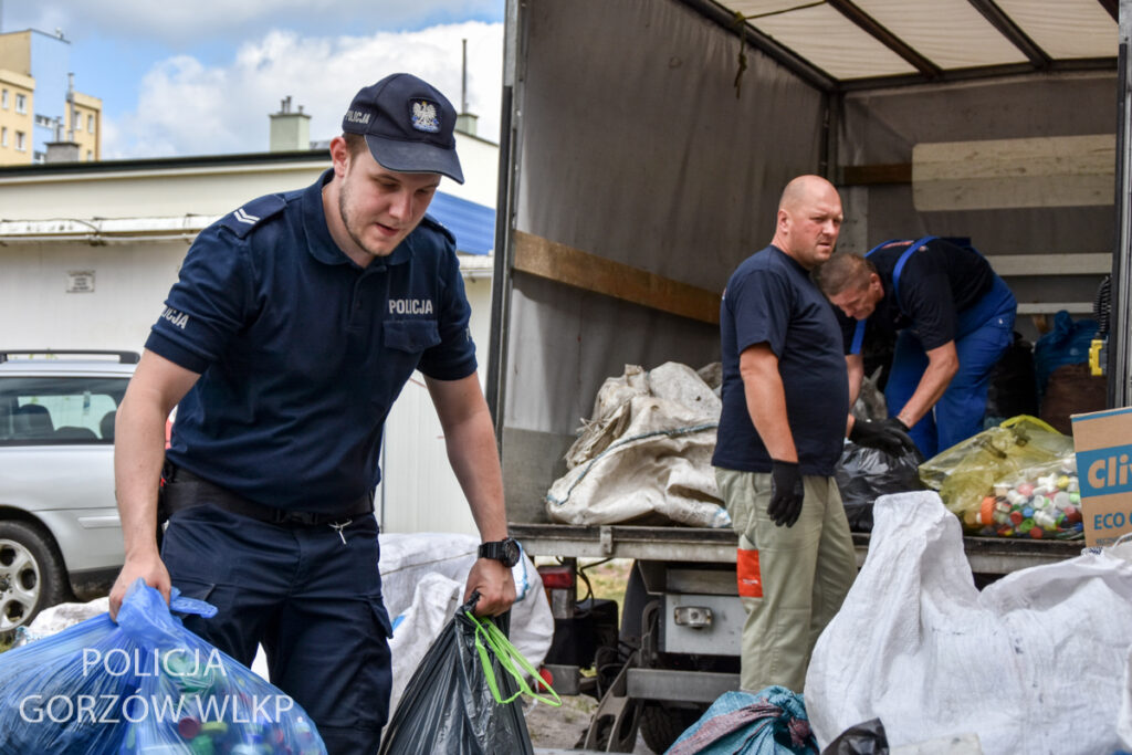
[[[865,338],[891,340],[897,331],[911,328],[925,351],[955,340],[958,314],[977,303],[994,284],[990,264],[976,250],[933,239],[914,251],[900,271],[899,298],[892,274],[912,239],[893,241],[868,256],[884,285],[884,298],[868,316]],[[857,320],[834,308],[844,338],[844,353],[852,353]]]

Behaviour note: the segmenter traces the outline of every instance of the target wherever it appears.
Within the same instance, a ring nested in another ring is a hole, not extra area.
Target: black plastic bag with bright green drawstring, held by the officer
[[[497,703],[481,652],[475,624],[468,614],[478,595],[461,607],[421,659],[381,736],[378,755],[533,755],[523,709],[517,698]],[[494,621],[504,633],[511,615]],[[504,698],[517,697],[514,678],[490,654],[495,684]]]

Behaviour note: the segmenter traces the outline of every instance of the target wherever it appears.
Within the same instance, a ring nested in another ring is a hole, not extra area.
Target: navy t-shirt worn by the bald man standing
[[[798,469],[832,477],[844,441],[849,381],[841,331],[806,269],[775,247],[748,257],[727,283],[720,336],[723,411],[712,464],[743,472],[772,469],[739,375],[739,354],[766,343],[779,360]]]

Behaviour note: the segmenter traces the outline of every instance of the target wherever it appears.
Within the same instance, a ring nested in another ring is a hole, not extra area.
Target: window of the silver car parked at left
[[[128,377],[0,378],[0,446],[114,441]]]

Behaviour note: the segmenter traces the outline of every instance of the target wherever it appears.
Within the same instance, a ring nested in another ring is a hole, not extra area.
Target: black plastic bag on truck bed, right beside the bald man
[[[873,531],[873,501],[892,492],[923,490],[918,451],[893,456],[878,448],[846,443],[834,477],[854,532]]]

